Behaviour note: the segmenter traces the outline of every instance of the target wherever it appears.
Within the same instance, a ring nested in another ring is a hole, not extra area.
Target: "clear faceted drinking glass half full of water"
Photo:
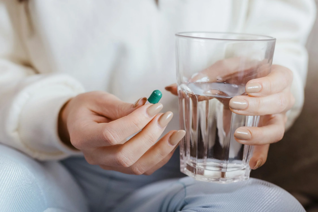
[[[238,127],[258,126],[259,116],[232,113],[234,96],[247,95],[251,79],[270,72],[276,39],[267,36],[184,32],[176,34],[181,172],[200,181],[249,178],[252,146],[234,139]]]

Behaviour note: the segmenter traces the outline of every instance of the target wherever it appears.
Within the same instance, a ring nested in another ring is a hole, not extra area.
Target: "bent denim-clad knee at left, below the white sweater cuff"
[[[1,144],[0,182],[1,212],[87,211],[82,190],[59,162],[39,162]]]

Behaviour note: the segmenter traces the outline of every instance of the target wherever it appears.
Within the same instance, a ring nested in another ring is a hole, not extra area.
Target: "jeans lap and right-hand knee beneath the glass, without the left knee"
[[[173,155],[150,176],[102,170],[84,158],[62,163],[83,188],[92,211],[305,211],[292,195],[266,181],[250,179],[224,185],[184,177],[178,159],[178,154]]]

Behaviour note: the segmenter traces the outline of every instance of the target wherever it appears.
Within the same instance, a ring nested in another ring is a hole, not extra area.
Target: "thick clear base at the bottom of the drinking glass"
[[[247,165],[238,168],[236,164],[226,164],[226,170],[216,166],[199,167],[180,161],[180,171],[198,181],[231,183],[247,180],[250,177],[251,168]]]

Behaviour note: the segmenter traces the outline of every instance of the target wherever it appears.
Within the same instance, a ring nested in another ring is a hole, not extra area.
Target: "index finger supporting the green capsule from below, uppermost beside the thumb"
[[[79,149],[119,144],[128,136],[144,128],[162,108],[160,103],[147,104],[109,123],[96,124],[84,120],[82,126],[75,126],[76,128],[72,131],[72,144]]]

